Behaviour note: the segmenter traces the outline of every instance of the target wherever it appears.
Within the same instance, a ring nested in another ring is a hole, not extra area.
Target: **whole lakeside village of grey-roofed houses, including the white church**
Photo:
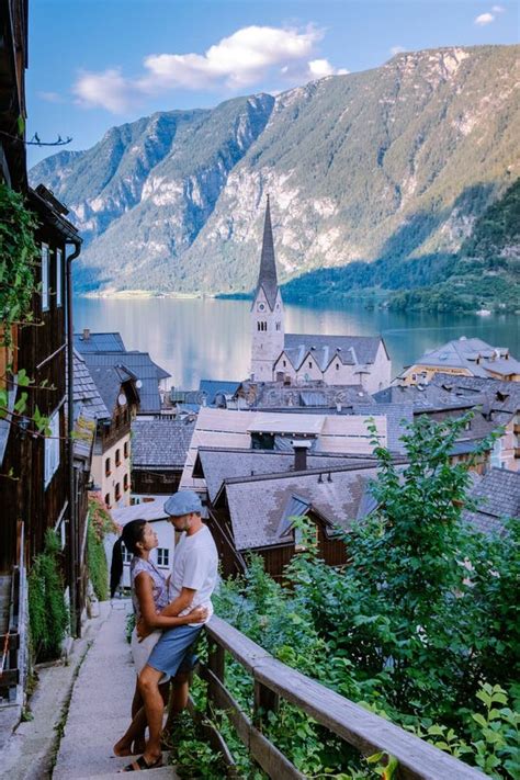
[[[520,518],[520,360],[507,344],[460,334],[396,376],[376,334],[286,332],[269,196],[246,376],[174,387],[154,355],[132,349],[120,332],[98,332],[95,323],[75,332],[82,237],[66,204],[44,184],[30,186],[16,129],[25,112],[23,9],[12,2],[0,12],[18,52],[12,59],[1,49],[0,91],[11,108],[0,115],[0,186],[14,221],[26,213],[20,193],[39,225],[29,228],[34,283],[24,307],[5,304],[12,316],[0,347],[0,713],[16,721],[26,701],[27,583],[38,556],[59,555],[68,633],[80,637],[98,609],[93,562],[106,569],[127,522],[152,524],[155,563],[171,568],[176,542],[165,504],[178,490],[201,497],[224,579],[245,575],[256,554],[283,583],[286,566],[307,550],[302,518],[319,557],[341,570],[352,525],[378,506],[374,448],[402,473],[403,437],[415,422],[463,418],[450,451],[451,464],[471,473],[461,522],[506,534],[506,520]],[[12,284],[21,296],[20,280]],[[129,587],[131,558],[125,551],[120,595]],[[47,659],[59,648],[39,653]]]

